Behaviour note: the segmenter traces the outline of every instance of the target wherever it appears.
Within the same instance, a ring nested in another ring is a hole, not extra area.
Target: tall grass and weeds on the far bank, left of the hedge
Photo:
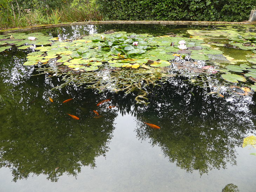
[[[102,20],[101,14],[99,11],[97,11],[95,0],[73,1],[71,4],[63,4],[59,9],[53,9],[51,11],[49,11],[49,9],[47,10],[42,8],[35,9],[33,11],[21,9],[19,16],[16,15],[14,11],[1,12],[0,10],[0,28],[25,27],[50,23],[58,24],[59,22],[82,22],[91,20]]]

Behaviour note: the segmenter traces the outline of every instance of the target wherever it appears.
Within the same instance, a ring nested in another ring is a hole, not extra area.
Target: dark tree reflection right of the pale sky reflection
[[[175,79],[155,87],[150,104],[138,111],[138,119],[161,127],[137,129],[140,139],[150,138],[161,146],[170,162],[187,171],[201,174],[213,168],[235,164],[235,145],[241,145],[243,136],[254,130],[248,104],[251,98],[225,95],[225,98],[206,95],[209,90],[193,87]]]

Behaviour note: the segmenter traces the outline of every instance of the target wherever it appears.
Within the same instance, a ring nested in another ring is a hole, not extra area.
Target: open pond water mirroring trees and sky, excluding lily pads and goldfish
[[[64,40],[112,29],[189,36],[188,29],[207,28],[213,26],[73,26],[44,33]],[[233,58],[251,54],[222,49]],[[148,86],[147,105],[136,104],[136,92],[73,84],[56,90],[61,77],[23,66],[30,52],[13,47],[0,55],[1,191],[255,191],[256,157],[249,154],[256,150],[242,148],[243,138],[256,134],[255,94],[227,91],[227,83],[219,85],[223,97],[208,94],[213,87],[186,76]]]

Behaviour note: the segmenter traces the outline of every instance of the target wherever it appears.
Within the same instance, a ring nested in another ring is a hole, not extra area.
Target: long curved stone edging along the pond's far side
[[[48,29],[73,25],[100,25],[100,24],[158,24],[158,25],[256,25],[256,22],[225,22],[225,21],[86,21],[59,23],[55,25],[38,25],[0,30],[0,34],[25,32],[35,29]]]

